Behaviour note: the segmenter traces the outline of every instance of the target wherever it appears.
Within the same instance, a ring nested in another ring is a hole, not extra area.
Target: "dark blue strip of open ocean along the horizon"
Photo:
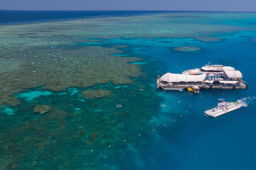
[[[42,22],[75,18],[134,16],[155,13],[183,13],[185,11],[9,11],[0,10],[0,23]],[[190,13],[197,13],[191,11]]]

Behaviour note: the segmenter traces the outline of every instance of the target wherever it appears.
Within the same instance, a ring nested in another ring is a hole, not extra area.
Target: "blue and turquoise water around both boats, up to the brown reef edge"
[[[225,22],[222,24],[252,27],[256,17],[252,15],[245,22],[246,17],[248,16],[241,14],[241,19],[237,18],[237,22],[223,19]],[[4,117],[1,129],[26,125],[24,126],[27,131],[20,132],[20,139],[16,137],[19,133],[9,134],[12,140],[6,142],[11,149],[20,147],[18,149],[24,153],[22,156],[26,157],[26,162],[19,163],[19,159],[16,158],[14,163],[27,169],[38,166],[41,167],[39,169],[254,169],[256,41],[252,39],[256,39],[256,31],[252,29],[215,33],[211,36],[222,39],[204,42],[193,37],[92,37],[91,39],[102,41],[73,42],[74,44],[69,46],[74,49],[81,46],[127,46],[122,48],[124,53],[119,56],[142,58],[143,61],[132,64],[141,63],[143,76],[132,78],[133,84],[116,85],[109,82],[95,84],[89,88],[68,88],[60,92],[42,90],[38,87],[15,94],[14,96],[22,101],[22,105],[1,108],[1,116]],[[195,46],[201,50],[174,50],[180,46]],[[181,73],[202,67],[209,62],[234,66],[243,73],[243,80],[249,84],[248,89],[201,89],[199,94],[187,90],[163,92],[156,89],[157,75],[166,72]],[[113,96],[93,100],[82,98],[82,91],[99,88],[111,90]],[[243,107],[216,118],[205,116],[205,109],[217,105],[217,99],[221,97],[238,101]],[[47,117],[47,114],[42,117],[33,113],[36,104],[52,104],[65,113],[58,112],[63,116],[58,119],[54,115]],[[161,107],[162,104],[165,107]],[[116,105],[122,107],[118,108]],[[115,114],[116,112],[118,114]],[[66,113],[73,115],[69,116]],[[29,126],[30,121],[35,121],[33,123],[39,125],[34,124],[36,128],[33,129]],[[45,125],[44,122],[50,122],[46,130],[40,129],[40,125]],[[65,136],[65,133],[60,131],[61,128],[68,134],[71,134],[69,131],[75,131],[74,135],[70,138],[68,135]],[[93,145],[87,143],[86,146],[85,143],[88,141],[85,141],[84,136],[76,136],[76,132],[82,131],[85,134],[99,131],[100,139],[92,140]],[[3,132],[6,135],[9,130]],[[57,148],[53,149],[47,143],[43,143],[42,138],[48,137],[46,133],[52,133],[48,142]],[[36,144],[22,144],[30,138],[36,138]],[[38,147],[38,143],[41,143],[44,149],[49,148],[45,149],[49,152],[44,153],[45,150]],[[28,147],[29,145],[31,146]],[[24,151],[25,148],[27,151]],[[36,155],[30,155],[35,152]],[[1,154],[8,155],[8,152],[2,147]],[[39,163],[34,165],[34,160]]]

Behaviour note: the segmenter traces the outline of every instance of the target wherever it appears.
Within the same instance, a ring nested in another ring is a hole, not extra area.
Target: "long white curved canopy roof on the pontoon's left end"
[[[160,81],[167,81],[167,82],[197,82],[197,81],[204,81],[206,77],[206,73],[201,75],[187,75],[187,74],[172,74],[172,73],[165,73],[161,78]]]

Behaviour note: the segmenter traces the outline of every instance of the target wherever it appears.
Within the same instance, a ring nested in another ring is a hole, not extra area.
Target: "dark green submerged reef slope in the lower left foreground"
[[[49,169],[97,169],[103,158],[113,163],[118,161],[115,155],[127,152],[126,148],[138,141],[138,133],[151,131],[148,121],[157,107],[148,104],[152,99],[157,103],[159,97],[153,95],[154,89],[150,86],[140,85],[145,79],[123,86],[122,90],[113,83],[96,84],[91,87],[94,91],[106,94],[111,91],[111,95],[84,102],[77,102],[83,88],[77,88],[79,91],[74,95],[70,94],[77,91],[75,88],[67,89],[69,95],[66,96],[55,93],[51,100],[37,97],[35,103],[51,104],[42,115],[33,113],[35,107],[38,112],[42,111],[42,105],[35,106],[25,99],[27,103],[22,103],[19,111],[5,116],[1,122],[3,126],[9,125],[1,129],[1,140],[13,156],[13,165],[33,169],[42,168],[42,164]],[[109,90],[95,90],[99,88]],[[117,104],[123,107],[118,108]],[[5,151],[0,158],[0,167],[4,168],[12,165]]]

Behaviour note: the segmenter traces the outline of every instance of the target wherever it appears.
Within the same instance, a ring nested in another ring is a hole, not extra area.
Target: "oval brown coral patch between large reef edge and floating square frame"
[[[84,99],[102,98],[111,94],[110,90],[85,90],[82,92]]]

